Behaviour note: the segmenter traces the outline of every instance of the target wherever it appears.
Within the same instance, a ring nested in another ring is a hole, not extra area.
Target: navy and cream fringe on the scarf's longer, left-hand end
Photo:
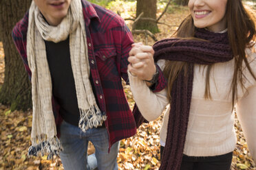
[[[53,156],[59,156],[60,152],[63,150],[61,142],[56,136],[53,138],[47,138],[46,135],[37,136],[32,138],[32,146],[28,149],[28,156],[41,156],[47,155],[47,160],[53,158]]]

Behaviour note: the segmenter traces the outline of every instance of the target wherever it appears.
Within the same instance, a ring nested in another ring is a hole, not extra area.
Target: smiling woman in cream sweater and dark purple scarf
[[[153,52],[137,44],[128,59],[131,91],[148,121],[170,106],[160,130],[160,169],[226,170],[236,145],[234,106],[256,160],[255,22],[241,0],[189,0],[189,9],[175,38],[153,45],[167,87],[151,93],[143,80],[152,71],[147,78],[140,73],[156,72]]]

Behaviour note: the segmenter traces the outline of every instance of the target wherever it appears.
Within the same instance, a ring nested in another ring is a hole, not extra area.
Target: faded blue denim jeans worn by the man
[[[116,158],[119,142],[112,145],[108,153],[109,140],[105,127],[83,132],[79,127],[63,121],[61,124],[61,162],[65,170],[118,170]],[[95,147],[95,154],[87,156],[88,142]]]

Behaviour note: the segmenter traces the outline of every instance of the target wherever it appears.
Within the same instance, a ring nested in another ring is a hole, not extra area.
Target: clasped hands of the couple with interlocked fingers
[[[156,73],[156,65],[153,61],[153,48],[148,45],[143,45],[142,42],[131,45],[129,52],[128,70],[131,75],[137,76],[140,80],[152,80]],[[147,83],[148,86],[151,84]]]

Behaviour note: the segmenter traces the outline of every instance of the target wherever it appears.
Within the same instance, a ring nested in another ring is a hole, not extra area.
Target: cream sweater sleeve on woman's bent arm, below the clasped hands
[[[131,92],[134,95],[136,105],[147,121],[153,121],[160,117],[164,108],[167,106],[167,90],[164,88],[160,92],[153,93],[146,82],[140,80],[129,73],[129,83]]]

